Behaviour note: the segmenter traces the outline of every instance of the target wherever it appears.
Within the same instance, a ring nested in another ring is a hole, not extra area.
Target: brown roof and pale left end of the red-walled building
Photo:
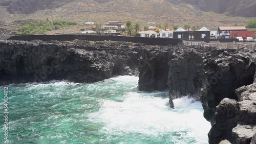
[[[231,31],[246,31],[243,27],[219,27],[217,38],[229,38]]]

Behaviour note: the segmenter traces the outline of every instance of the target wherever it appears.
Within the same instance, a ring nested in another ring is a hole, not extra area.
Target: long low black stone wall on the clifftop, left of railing
[[[125,37],[125,36],[98,36],[98,35],[20,35],[12,36],[10,40],[58,40],[58,41],[70,41],[70,40],[91,40],[91,41],[125,41],[135,43],[145,43],[148,45],[178,45],[182,44],[181,39],[172,38],[146,38],[146,37]]]

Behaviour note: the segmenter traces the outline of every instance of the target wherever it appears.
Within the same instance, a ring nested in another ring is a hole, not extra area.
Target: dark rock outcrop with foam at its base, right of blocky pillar
[[[173,59],[168,62],[168,86],[173,99],[181,95],[197,94],[205,83],[205,58],[216,57],[223,50],[212,47],[205,49],[200,46],[184,46],[176,49]]]

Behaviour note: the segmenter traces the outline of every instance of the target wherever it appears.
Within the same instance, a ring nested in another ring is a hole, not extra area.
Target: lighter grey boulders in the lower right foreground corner
[[[238,88],[236,94],[239,102],[225,98],[217,106],[216,123],[208,133],[209,143],[222,139],[232,143],[252,141],[256,133],[256,83]]]

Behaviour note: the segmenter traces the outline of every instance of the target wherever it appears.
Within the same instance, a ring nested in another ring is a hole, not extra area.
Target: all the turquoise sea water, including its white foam
[[[185,97],[171,109],[168,91],[137,86],[134,76],[8,85],[10,143],[208,143],[200,102]],[[3,113],[4,86],[0,92]]]

